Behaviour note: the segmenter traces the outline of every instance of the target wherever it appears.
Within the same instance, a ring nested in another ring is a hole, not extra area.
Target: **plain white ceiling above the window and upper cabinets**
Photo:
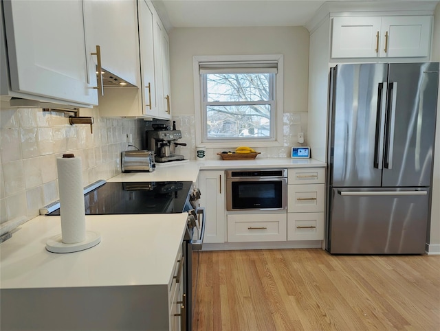
[[[345,3],[343,3],[343,1]],[[349,1],[349,2],[347,2]],[[166,30],[172,27],[252,27],[306,25],[324,3],[399,5],[423,0],[153,0]],[[438,1],[430,1],[438,2]],[[347,7],[348,8],[348,7]]]

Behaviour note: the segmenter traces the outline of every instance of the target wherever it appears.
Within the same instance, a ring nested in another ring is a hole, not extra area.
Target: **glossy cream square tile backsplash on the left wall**
[[[142,119],[100,117],[98,109],[81,109],[93,116],[90,126],[71,126],[69,115],[42,109],[0,111],[0,223],[29,220],[58,199],[56,158],[74,153],[83,163],[83,185],[120,173],[120,152],[132,144],[142,148]]]

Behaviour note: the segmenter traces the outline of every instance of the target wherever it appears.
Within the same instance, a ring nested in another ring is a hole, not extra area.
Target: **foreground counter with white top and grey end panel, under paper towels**
[[[86,216],[101,242],[50,253],[58,216],[39,216],[1,244],[1,330],[169,330],[187,213]]]

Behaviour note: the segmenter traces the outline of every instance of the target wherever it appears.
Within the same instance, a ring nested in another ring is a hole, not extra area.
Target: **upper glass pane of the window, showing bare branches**
[[[268,101],[272,73],[208,73],[206,101]]]

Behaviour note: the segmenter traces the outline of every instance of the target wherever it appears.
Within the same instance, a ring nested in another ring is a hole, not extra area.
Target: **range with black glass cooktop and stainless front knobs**
[[[205,209],[199,207],[200,191],[191,181],[165,182],[106,182],[98,181],[85,187],[85,214],[168,214],[188,212],[188,223],[182,242],[184,253],[184,293],[186,326],[192,330],[195,301],[193,286],[197,279],[198,255],[205,231]],[[41,209],[41,214],[60,214],[59,201]],[[194,257],[194,258],[193,258]],[[193,270],[195,272],[193,272]],[[194,284],[193,284],[194,283]]]

